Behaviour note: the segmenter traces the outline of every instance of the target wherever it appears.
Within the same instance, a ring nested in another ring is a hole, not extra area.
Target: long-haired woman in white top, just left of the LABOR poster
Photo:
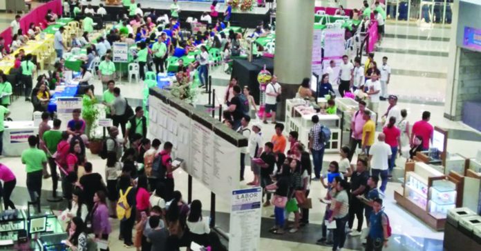
[[[187,216],[187,228],[189,228],[189,246],[194,241],[199,245],[207,246],[210,232],[209,223],[202,219],[202,203],[198,199],[192,201],[189,216]]]

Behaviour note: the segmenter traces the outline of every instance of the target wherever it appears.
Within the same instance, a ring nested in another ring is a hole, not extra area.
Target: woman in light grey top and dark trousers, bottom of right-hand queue
[[[341,180],[337,183],[337,194],[332,199],[332,214],[328,219],[329,223],[336,221],[336,228],[334,229],[332,250],[338,250],[344,247],[346,241],[346,222],[349,214],[349,184],[347,181]]]

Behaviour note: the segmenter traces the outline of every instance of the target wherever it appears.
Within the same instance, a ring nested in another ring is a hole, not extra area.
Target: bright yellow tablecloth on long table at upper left
[[[19,53],[21,49],[25,50],[25,54],[32,54],[38,58],[41,52],[43,52],[44,46],[47,46],[48,44],[53,46],[53,34],[46,34],[44,39],[40,39],[40,35],[37,35],[35,40],[29,40],[25,46],[15,50],[8,55],[8,57],[1,59],[0,70],[3,70],[3,73],[8,74],[15,64],[15,54]]]

